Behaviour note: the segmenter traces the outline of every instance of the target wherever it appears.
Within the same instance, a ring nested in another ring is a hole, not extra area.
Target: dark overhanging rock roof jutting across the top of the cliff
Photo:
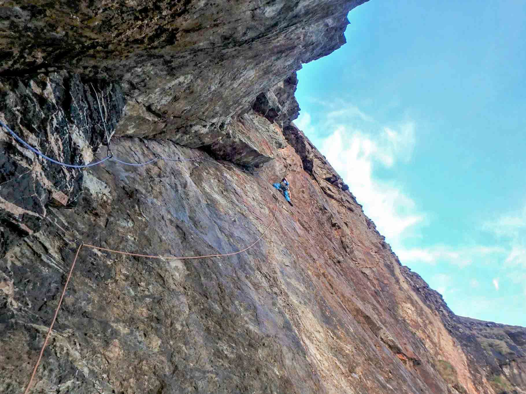
[[[148,125],[134,136],[214,133],[302,63],[344,44],[347,13],[361,3],[15,2],[2,8],[0,73],[68,69],[118,80],[130,101],[124,118]]]

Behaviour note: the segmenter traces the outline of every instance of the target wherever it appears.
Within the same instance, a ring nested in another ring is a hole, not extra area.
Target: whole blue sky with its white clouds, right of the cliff
[[[371,0],[296,125],[454,313],[526,326],[526,2]]]

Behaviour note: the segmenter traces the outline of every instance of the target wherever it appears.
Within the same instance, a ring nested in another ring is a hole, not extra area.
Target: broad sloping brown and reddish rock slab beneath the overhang
[[[119,140],[114,154],[134,152],[138,161],[151,151],[205,154],[147,143]],[[152,254],[235,251],[270,223],[277,201],[270,183],[288,165],[295,210],[280,203],[271,232],[247,254],[187,262],[82,252],[37,389],[419,392],[428,389],[421,376],[442,387],[426,349],[385,309],[393,300],[375,278],[381,268],[361,212],[344,216],[356,228],[356,248],[366,248],[354,262],[332,243],[346,226],[339,205],[294,150],[276,155],[259,177],[210,162],[129,168],[110,161],[88,170],[79,204],[49,208],[41,231],[4,257],[3,391],[27,381],[75,240]],[[24,357],[5,358],[13,354]]]

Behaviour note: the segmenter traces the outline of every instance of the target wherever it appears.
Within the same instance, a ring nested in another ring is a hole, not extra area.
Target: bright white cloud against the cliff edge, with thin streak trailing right
[[[348,103],[318,103],[329,110],[325,122],[314,127],[309,113],[302,111],[296,126],[312,136],[312,141],[349,184],[352,193],[363,204],[365,213],[386,236],[402,263],[448,261],[463,267],[472,264],[476,258],[502,252],[500,248],[482,245],[403,248],[404,239],[415,235],[417,226],[427,222],[427,215],[418,209],[402,185],[375,177],[375,169],[395,170],[397,163],[411,160],[416,145],[414,123],[382,126]],[[350,118],[363,121],[358,122],[363,130],[349,126],[356,124],[356,121],[350,122]],[[318,129],[323,130],[321,136],[316,132]]]

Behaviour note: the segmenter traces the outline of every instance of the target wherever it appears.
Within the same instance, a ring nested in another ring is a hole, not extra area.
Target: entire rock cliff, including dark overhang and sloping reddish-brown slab
[[[526,329],[454,315],[293,123],[295,71],[359,3],[0,10],[0,121],[110,157],[60,167],[0,133],[0,392],[27,384],[80,243],[232,253],[270,224],[226,257],[84,247],[33,392],[526,392]]]

